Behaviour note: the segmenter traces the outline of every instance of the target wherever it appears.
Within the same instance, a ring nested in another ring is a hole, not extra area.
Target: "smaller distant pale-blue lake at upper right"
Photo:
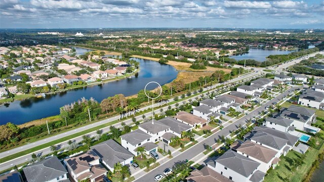
[[[295,52],[296,50],[272,50],[272,49],[250,49],[249,52],[235,54],[233,56],[229,56],[230,58],[234,58],[236,60],[244,60],[244,59],[254,59],[257,61],[266,61],[266,57],[274,54],[289,54],[291,52]]]

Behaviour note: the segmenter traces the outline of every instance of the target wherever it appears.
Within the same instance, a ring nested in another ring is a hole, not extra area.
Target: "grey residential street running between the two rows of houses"
[[[146,173],[145,175],[141,176],[140,178],[137,178],[135,181],[154,181],[154,177],[157,174],[163,174],[163,171],[168,168],[172,167],[175,163],[185,161],[186,159],[190,161],[190,159],[194,158],[195,156],[203,153],[205,151],[205,145],[213,146],[216,143],[217,139],[220,139],[222,135],[227,136],[230,134],[230,131],[234,131],[238,128],[239,125],[244,125],[247,123],[247,121],[252,118],[253,116],[258,116],[262,111],[265,110],[266,106],[272,105],[272,102],[278,102],[279,100],[282,100],[285,96],[289,94],[290,90],[296,90],[300,87],[293,87],[285,91],[284,93],[279,94],[272,100],[269,100],[262,106],[258,107],[256,110],[252,111],[249,115],[246,115],[236,122],[233,122],[229,124],[228,126],[224,127],[222,130],[217,131],[213,135],[209,136],[208,138],[204,139],[203,141],[193,145],[193,147],[189,148],[185,152],[181,153],[180,155],[173,157],[170,161],[166,162],[165,164],[162,164],[158,166],[157,168],[151,170],[150,172]]]

